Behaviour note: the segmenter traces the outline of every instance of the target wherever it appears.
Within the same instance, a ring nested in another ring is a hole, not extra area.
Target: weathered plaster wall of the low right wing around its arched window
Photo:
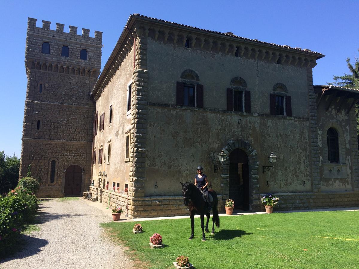
[[[352,108],[347,114],[345,108],[337,112],[339,105],[337,102],[334,102],[325,111],[327,105],[327,102],[321,102],[318,107],[321,191],[352,191],[355,190],[358,180],[355,169],[355,164],[358,162],[356,122],[353,121],[355,119],[355,108]],[[327,131],[329,128],[334,128],[338,133],[338,164],[331,164],[328,161]]]

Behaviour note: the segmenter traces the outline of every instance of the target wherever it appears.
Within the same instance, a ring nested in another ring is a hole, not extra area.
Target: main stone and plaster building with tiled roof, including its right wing
[[[265,193],[279,210],[357,205],[359,92],[313,86],[322,57],[131,15],[91,87],[91,192],[133,218],[185,214],[180,181],[202,165],[221,210],[260,210]]]

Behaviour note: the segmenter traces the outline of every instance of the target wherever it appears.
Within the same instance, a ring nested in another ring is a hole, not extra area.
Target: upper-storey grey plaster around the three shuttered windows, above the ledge
[[[252,112],[270,114],[269,95],[273,86],[281,82],[292,96],[293,116],[308,117],[305,68],[173,46],[151,38],[148,38],[148,51],[149,102],[176,104],[176,81],[181,81],[183,71],[191,69],[204,85],[205,108],[226,110],[226,90],[231,79],[239,76],[251,91]]]

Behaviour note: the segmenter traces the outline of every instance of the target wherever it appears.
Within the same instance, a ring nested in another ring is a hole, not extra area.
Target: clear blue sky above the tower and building
[[[122,3],[122,4],[121,4]],[[173,3],[173,4],[171,4]],[[348,72],[345,59],[359,57],[359,1],[5,1],[0,0],[0,151],[21,152],[26,94],[24,51],[27,18],[103,32],[102,67],[130,14],[309,48],[326,57],[313,69],[314,84]]]

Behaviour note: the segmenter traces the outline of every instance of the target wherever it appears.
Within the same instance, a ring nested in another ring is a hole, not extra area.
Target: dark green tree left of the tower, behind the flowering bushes
[[[0,194],[14,189],[19,180],[20,159],[0,151]]]

